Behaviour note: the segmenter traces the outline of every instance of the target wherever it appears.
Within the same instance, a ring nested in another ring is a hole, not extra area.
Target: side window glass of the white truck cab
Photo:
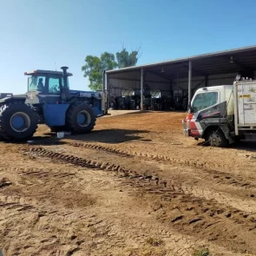
[[[217,92],[207,92],[195,95],[194,101],[192,103],[193,112],[198,112],[202,109],[212,107],[218,101]]]

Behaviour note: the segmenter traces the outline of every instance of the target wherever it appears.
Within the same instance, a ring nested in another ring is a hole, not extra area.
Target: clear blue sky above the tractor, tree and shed
[[[24,93],[24,71],[69,66],[88,89],[87,55],[141,46],[138,64],[256,44],[255,0],[0,0],[0,92]]]

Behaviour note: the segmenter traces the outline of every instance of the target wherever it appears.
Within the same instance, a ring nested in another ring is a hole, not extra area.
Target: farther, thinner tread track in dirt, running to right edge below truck
[[[150,159],[153,161],[167,161],[171,162],[172,164],[176,164],[179,166],[186,166],[186,167],[198,167],[197,171],[201,171],[204,174],[211,175],[213,181],[216,184],[225,184],[235,187],[241,187],[241,188],[255,188],[255,185],[253,185],[250,181],[246,181],[243,176],[238,174],[231,174],[231,173],[225,173],[221,172],[219,170],[215,170],[212,165],[209,165],[206,162],[200,162],[200,161],[189,161],[189,160],[180,160],[176,158],[172,158],[165,155],[160,154],[145,154],[145,153],[137,153],[133,151],[125,151],[120,150],[117,148],[111,148],[111,147],[105,147],[100,146],[93,143],[87,143],[87,142],[69,142],[69,146],[76,147],[76,148],[90,148],[95,150],[100,150],[107,152],[109,154],[118,154],[123,157],[140,157],[143,159]],[[225,165],[218,165],[218,167],[225,167]]]

